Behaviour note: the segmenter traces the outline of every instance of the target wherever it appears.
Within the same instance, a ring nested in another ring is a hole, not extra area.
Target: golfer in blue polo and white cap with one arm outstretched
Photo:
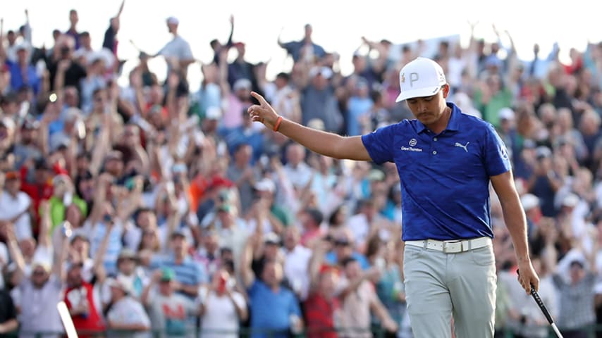
[[[498,195],[525,292],[539,289],[529,257],[527,221],[502,139],[491,123],[448,102],[450,85],[435,61],[415,58],[399,73],[413,120],[344,137],[279,115],[263,96],[252,120],[324,156],[393,162],[403,199],[405,291],[416,338],[491,338],[495,325],[496,258],[489,186]]]

